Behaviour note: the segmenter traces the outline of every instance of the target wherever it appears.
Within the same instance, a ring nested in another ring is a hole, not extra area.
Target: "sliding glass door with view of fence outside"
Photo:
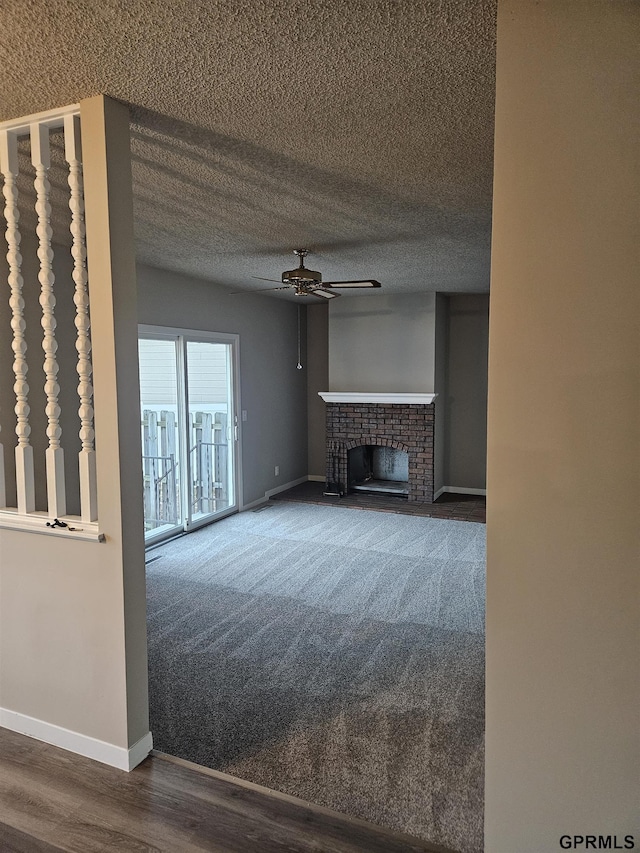
[[[238,507],[237,338],[141,330],[145,538],[208,524]]]

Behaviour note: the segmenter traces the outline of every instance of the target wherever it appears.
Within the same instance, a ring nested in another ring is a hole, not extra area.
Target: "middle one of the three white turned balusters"
[[[53,293],[53,251],[51,249],[51,205],[49,204],[49,128],[46,125],[31,125],[31,162],[36,169],[36,213],[38,214],[38,258],[40,259],[40,305],[42,307],[42,349],[44,350],[44,384],[47,395],[46,413],[48,419],[47,436],[49,446],[46,451],[47,467],[47,503],[49,515],[57,517],[66,514],[66,496],[64,482],[64,451],[60,446],[62,429],[60,427],[60,406],[58,395],[58,360],[56,352],[56,318],[54,308],[56,299]]]

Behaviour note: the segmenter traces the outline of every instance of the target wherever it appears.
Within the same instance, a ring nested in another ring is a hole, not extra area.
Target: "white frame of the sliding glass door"
[[[222,518],[225,518],[228,515],[233,515],[236,512],[240,511],[240,507],[244,505],[243,501],[243,492],[242,492],[242,453],[241,453],[241,441],[242,441],[242,419],[240,418],[240,412],[242,410],[241,401],[240,401],[240,335],[229,333],[229,332],[214,332],[214,331],[203,331],[202,329],[184,329],[177,326],[154,326],[146,323],[138,324],[138,339],[141,337],[149,337],[155,338],[156,340],[172,340],[178,344],[179,341],[184,343],[193,341],[195,343],[219,343],[219,344],[229,344],[231,346],[231,394],[232,394],[232,422],[230,424],[230,435],[231,435],[231,446],[232,446],[232,456],[233,456],[233,472],[234,472],[234,495],[235,495],[235,504],[233,507],[229,507],[227,510],[222,510],[220,513],[216,514],[215,518],[207,517],[202,520],[192,522],[187,524],[187,519],[184,517],[181,519],[182,523],[180,527],[175,528],[173,531],[168,531],[164,534],[158,534],[157,536],[149,536],[145,537],[145,547],[150,548],[153,545],[157,545],[160,542],[170,539],[174,536],[179,536],[184,533],[191,533],[194,530],[198,530],[201,527],[205,527],[207,524],[213,524],[215,521],[219,521]],[[180,449],[180,467],[182,469],[182,476],[185,478],[185,482],[189,482],[189,472],[190,472],[190,464],[189,459],[189,451],[187,448],[187,418],[188,418],[188,391],[186,385],[186,376],[187,376],[187,363],[186,363],[186,346],[180,345],[176,346],[176,371],[177,371],[177,390],[178,390],[178,398],[182,399],[185,402],[184,411],[181,411],[182,407],[178,406],[178,419],[180,421],[180,431],[184,438],[181,441],[181,449]],[[181,496],[181,500],[183,500]],[[183,515],[181,510],[181,515]]]

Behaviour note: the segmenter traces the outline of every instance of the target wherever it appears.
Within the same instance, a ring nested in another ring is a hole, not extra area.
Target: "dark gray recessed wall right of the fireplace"
[[[485,489],[489,296],[455,294],[446,303],[443,485]]]

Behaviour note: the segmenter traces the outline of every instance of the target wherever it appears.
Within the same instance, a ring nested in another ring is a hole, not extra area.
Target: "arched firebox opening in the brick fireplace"
[[[347,451],[349,491],[409,496],[409,454],[395,447],[360,444]]]

